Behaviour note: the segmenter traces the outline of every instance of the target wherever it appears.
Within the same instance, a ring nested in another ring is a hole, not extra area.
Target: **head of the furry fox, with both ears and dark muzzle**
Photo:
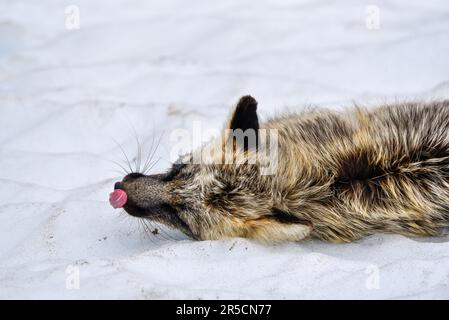
[[[256,100],[244,96],[220,137],[182,156],[166,173],[131,173],[115,189],[126,193],[123,207],[130,215],[194,239],[303,239],[310,225],[276,200],[276,174],[262,172],[258,153],[268,140],[260,134]]]

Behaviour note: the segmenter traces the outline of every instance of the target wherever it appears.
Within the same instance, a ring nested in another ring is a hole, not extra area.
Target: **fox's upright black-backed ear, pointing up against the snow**
[[[226,123],[226,129],[231,131],[233,141],[243,144],[243,149],[256,148],[259,138],[259,118],[257,116],[257,101],[247,95],[240,98]],[[245,143],[245,137],[247,143]]]

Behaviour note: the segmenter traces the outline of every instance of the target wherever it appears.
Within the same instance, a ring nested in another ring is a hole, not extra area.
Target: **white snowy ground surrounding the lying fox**
[[[449,298],[449,237],[194,242],[107,202],[114,139],[162,135],[156,172],[240,95],[262,117],[448,98],[448,57],[446,0],[0,0],[0,298]]]

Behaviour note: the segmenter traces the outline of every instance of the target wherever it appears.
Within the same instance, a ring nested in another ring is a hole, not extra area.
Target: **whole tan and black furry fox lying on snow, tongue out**
[[[449,100],[290,111],[264,122],[257,105],[241,97],[222,132],[167,172],[127,174],[114,185],[125,201],[111,204],[196,240],[348,243],[440,236],[449,226]],[[259,157],[271,142],[275,152]]]

